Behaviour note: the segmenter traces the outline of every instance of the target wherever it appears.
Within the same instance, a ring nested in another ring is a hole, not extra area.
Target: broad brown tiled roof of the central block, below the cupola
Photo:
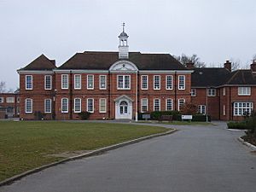
[[[115,61],[119,61],[118,52],[85,51],[73,55],[59,69],[108,70]],[[139,70],[187,70],[170,54],[130,52],[129,61],[136,64]]]

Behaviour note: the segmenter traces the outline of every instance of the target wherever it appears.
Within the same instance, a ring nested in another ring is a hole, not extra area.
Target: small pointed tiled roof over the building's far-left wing
[[[32,61],[26,67],[21,68],[20,70],[52,70],[55,67],[55,60],[49,60],[45,55],[38,56],[37,59]]]

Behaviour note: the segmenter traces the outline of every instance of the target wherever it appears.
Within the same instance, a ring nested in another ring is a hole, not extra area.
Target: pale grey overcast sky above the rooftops
[[[0,0],[0,81],[44,54],[63,64],[76,52],[118,50],[125,21],[131,51],[196,54],[209,65],[256,54],[255,0]]]

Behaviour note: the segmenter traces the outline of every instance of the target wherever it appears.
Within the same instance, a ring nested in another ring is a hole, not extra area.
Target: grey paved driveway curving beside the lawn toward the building
[[[176,126],[180,131],[24,177],[0,191],[255,192],[256,155],[241,131]]]

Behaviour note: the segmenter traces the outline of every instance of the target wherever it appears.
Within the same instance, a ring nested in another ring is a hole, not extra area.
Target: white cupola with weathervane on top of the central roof
[[[127,39],[129,36],[125,32],[125,23],[123,23],[123,32],[119,35],[119,59],[128,59],[129,58],[129,46]]]

